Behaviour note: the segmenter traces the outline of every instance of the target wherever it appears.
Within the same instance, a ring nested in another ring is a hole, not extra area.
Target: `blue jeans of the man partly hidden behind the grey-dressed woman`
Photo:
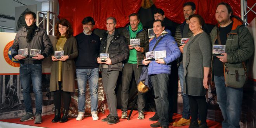
[[[180,87],[182,90],[182,100],[183,100],[183,112],[182,112],[182,118],[190,119],[190,110],[189,110],[189,96],[184,93],[183,91],[183,84],[184,84],[184,69],[183,64],[180,64],[178,68],[178,74],[180,78]]]

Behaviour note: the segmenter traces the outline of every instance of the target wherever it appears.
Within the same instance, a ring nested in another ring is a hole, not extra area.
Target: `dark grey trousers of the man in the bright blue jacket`
[[[150,80],[155,94],[156,111],[161,126],[169,126],[169,74],[152,74]]]

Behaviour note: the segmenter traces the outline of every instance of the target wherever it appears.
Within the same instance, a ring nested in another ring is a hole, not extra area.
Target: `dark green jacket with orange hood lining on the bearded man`
[[[237,17],[232,16],[233,26],[227,35],[226,50],[227,61],[226,67],[243,68],[242,62],[246,62],[254,52],[254,43],[251,33],[243,24],[243,21]],[[219,31],[220,25],[217,24],[211,31],[211,44],[212,48],[217,40],[217,31]],[[213,57],[211,61],[213,66]],[[248,70],[247,70],[248,71]],[[213,68],[211,67],[211,78],[213,80]]]

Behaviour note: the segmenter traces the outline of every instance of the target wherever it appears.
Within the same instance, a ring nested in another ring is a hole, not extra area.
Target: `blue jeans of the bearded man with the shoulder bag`
[[[224,76],[214,76],[214,83],[217,103],[224,119],[222,128],[240,128],[243,88],[226,87]]]

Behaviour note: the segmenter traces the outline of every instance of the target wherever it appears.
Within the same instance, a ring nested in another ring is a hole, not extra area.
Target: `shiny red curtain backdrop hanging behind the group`
[[[200,14],[206,24],[216,24],[215,10],[220,2],[226,2],[232,7],[234,14],[240,16],[240,0],[156,0],[157,8],[163,9],[165,16],[173,22],[182,23],[183,4],[194,2],[196,13]],[[252,7],[255,0],[247,0],[247,5]],[[137,13],[142,5],[142,0],[59,0],[59,18],[66,18],[71,22],[74,35],[83,31],[81,21],[86,16],[92,16],[95,27],[106,29],[107,17],[115,17],[117,28],[129,23],[128,16]],[[255,7],[254,7],[255,8]],[[247,9],[249,10],[249,9]],[[248,22],[256,15],[249,12]]]

